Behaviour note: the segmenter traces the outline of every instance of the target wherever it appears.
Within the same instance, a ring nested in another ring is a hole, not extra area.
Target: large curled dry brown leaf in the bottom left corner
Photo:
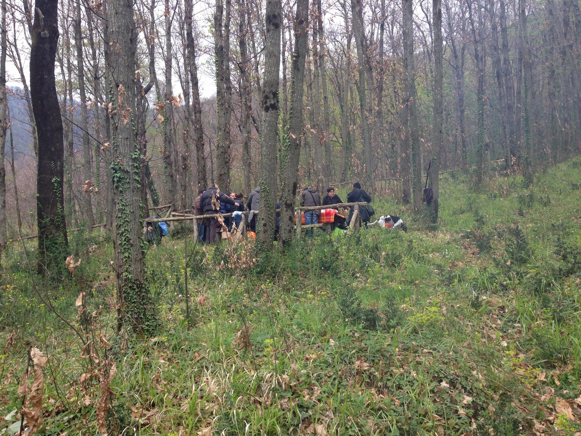
[[[33,385],[28,389],[28,374],[26,374],[23,378],[23,383],[18,388],[19,393],[24,390],[23,393],[26,395],[22,413],[26,416],[28,430],[24,435],[38,433],[38,430],[42,426],[42,389],[44,389],[44,374],[42,373],[42,368],[46,366],[47,359],[36,347],[31,348],[30,359],[34,363]]]

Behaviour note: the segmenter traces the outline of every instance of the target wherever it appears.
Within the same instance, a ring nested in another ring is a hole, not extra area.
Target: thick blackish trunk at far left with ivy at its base
[[[38,136],[39,274],[64,266],[68,251],[63,195],[63,124],[56,95],[57,0],[36,0],[30,47],[30,97]]]

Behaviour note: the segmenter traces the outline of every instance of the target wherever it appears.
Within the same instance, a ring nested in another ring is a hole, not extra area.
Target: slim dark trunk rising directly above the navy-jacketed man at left
[[[192,130],[193,146],[196,150],[196,173],[198,174],[196,188],[205,187],[208,183],[206,175],[206,153],[204,151],[204,131],[202,128],[202,104],[200,103],[200,87],[198,84],[198,65],[196,64],[196,42],[192,32],[192,0],[185,0],[185,37],[188,45],[188,64],[192,82]]]

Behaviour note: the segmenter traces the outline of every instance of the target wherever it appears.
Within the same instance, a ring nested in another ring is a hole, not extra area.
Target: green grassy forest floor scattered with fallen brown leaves
[[[37,346],[49,356],[45,435],[96,433],[98,374],[113,360],[110,434],[574,435],[581,160],[539,175],[532,189],[522,177],[494,178],[478,193],[451,176],[430,231],[407,206],[382,199],[378,215],[400,215],[408,233],[321,234],[234,269],[239,250],[196,247],[191,328],[183,237],[164,238],[146,257],[163,321],[149,339],[114,333],[108,237],[75,234],[73,254],[83,259],[75,277],[35,280],[80,331],[75,300],[86,292],[89,339],[110,342],[96,346],[99,363],[81,357],[78,337],[33,292],[21,246],[9,245],[0,351],[13,328],[16,341],[0,356],[2,383],[10,371],[0,434],[19,420],[17,387]],[[34,262],[34,242],[27,248]],[[245,322],[250,346],[236,340]]]

